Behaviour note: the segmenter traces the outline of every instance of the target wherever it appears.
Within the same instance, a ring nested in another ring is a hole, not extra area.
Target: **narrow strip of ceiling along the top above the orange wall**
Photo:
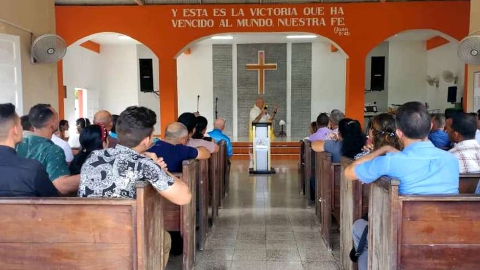
[[[349,2],[405,2],[412,0],[55,0],[56,5],[168,5],[168,4],[298,4]],[[429,1],[429,0],[415,0]],[[447,0],[440,0],[447,1]],[[459,0],[460,1],[460,0]]]

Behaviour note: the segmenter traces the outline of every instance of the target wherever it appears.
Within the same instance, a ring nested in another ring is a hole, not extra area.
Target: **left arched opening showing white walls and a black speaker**
[[[75,120],[92,120],[98,110],[121,113],[132,105],[157,114],[160,134],[158,57],[141,42],[119,33],[84,37],[68,46],[63,58],[64,117],[70,132]]]

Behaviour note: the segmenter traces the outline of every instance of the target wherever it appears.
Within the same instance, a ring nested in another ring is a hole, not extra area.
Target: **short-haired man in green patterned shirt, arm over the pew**
[[[77,191],[80,176],[70,176],[63,150],[51,140],[58,127],[55,109],[49,104],[37,104],[30,109],[29,121],[34,134],[17,144],[18,156],[39,161],[60,193]]]

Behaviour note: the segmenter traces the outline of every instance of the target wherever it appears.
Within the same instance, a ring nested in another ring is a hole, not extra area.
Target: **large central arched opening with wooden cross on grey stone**
[[[303,139],[320,112],[345,110],[346,59],[337,44],[309,33],[203,37],[177,55],[178,112],[197,111],[200,95],[198,110],[209,129],[217,111],[227,135],[248,141],[249,112],[261,94],[270,111],[279,108],[275,133],[283,120],[289,139]],[[263,74],[247,68],[259,61],[266,65]]]

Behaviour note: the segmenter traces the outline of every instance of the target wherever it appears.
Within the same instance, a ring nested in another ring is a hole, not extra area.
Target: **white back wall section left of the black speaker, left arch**
[[[138,105],[138,60],[135,44],[100,45],[102,68],[100,109],[120,114]]]

